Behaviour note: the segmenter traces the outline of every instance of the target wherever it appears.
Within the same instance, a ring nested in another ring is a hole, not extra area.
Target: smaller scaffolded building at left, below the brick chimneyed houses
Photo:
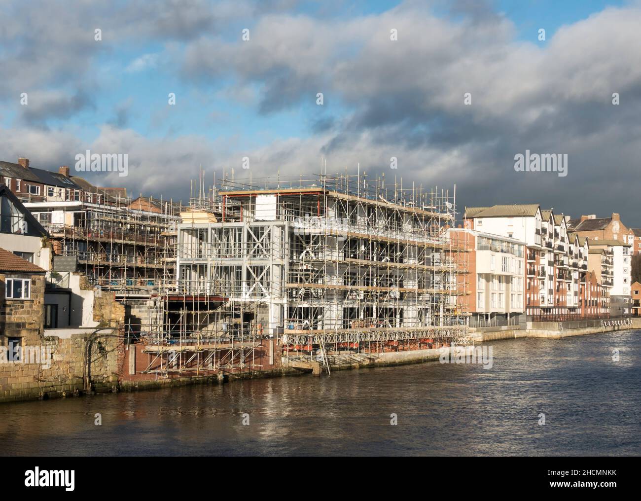
[[[76,258],[95,286],[121,295],[149,294],[174,273],[181,204],[113,196],[109,188],[60,190],[26,206],[49,232],[54,260]]]

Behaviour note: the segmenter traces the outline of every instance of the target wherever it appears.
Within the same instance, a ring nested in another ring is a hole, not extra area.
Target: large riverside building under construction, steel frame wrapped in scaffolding
[[[144,363],[130,366],[207,375],[282,356],[329,370],[345,356],[467,344],[455,214],[454,193],[384,177],[224,176],[181,213],[176,275],[141,329]]]

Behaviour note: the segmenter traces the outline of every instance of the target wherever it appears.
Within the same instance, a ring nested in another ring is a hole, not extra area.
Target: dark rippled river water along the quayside
[[[0,404],[0,454],[638,456],[640,339],[496,341],[491,369],[436,362]]]

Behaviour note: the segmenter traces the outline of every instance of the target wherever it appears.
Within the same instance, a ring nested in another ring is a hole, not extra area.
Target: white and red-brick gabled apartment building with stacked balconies
[[[467,208],[465,227],[526,243],[527,315],[581,315],[589,247],[569,233],[565,216],[538,204]]]

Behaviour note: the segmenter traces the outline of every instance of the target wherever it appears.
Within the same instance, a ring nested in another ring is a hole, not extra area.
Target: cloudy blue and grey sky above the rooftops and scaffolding
[[[187,201],[201,166],[211,184],[324,159],[456,183],[459,212],[539,203],[641,227],[637,0],[0,0],[0,17],[0,160],[126,153],[126,177],[76,174]],[[526,150],[567,154],[567,176],[517,172]]]

